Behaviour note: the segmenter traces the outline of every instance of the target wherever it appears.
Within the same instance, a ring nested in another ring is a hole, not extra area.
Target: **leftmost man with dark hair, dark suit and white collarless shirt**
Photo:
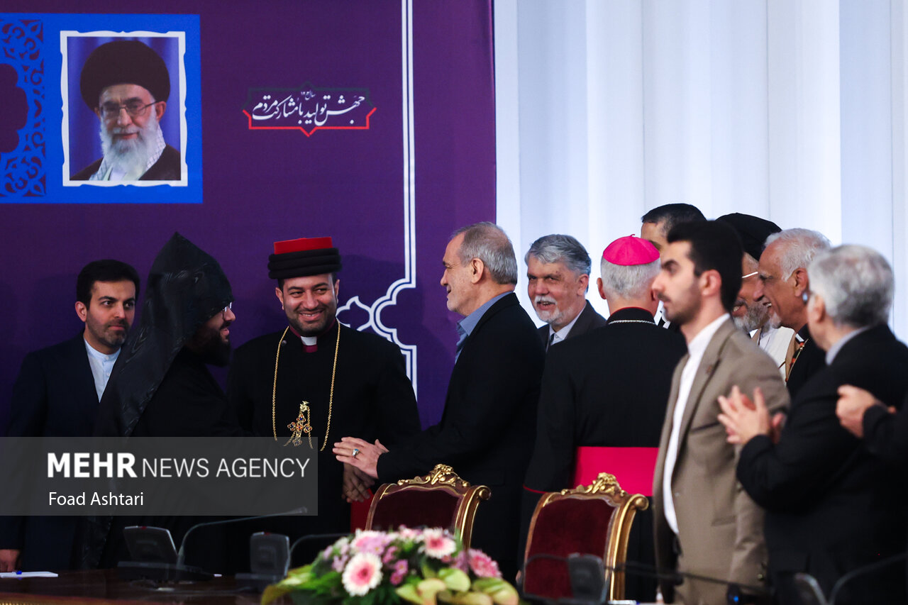
[[[76,278],[74,338],[30,352],[13,385],[8,436],[91,435],[98,401],[133,324],[139,274],[120,261],[94,261]],[[72,565],[74,517],[0,519],[0,571]]]

